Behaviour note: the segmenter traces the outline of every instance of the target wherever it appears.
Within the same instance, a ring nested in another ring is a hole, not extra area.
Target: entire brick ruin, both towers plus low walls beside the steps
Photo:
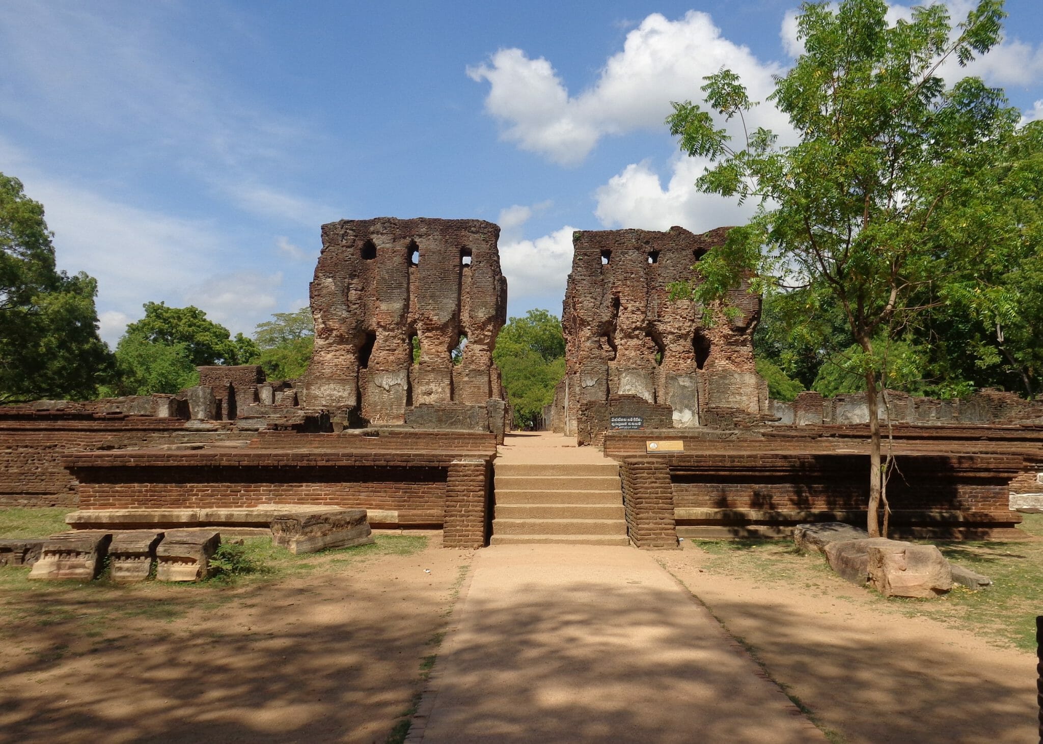
[[[729,297],[738,315],[708,323],[668,297],[726,232],[574,239],[566,376],[547,417],[620,463],[639,547],[865,520],[865,398],[768,400],[746,283]],[[78,506],[79,529],[160,530],[263,527],[273,505],[364,508],[374,527],[486,545],[509,421],[491,360],[507,291],[498,235],[479,220],[324,225],[304,378],[210,366],[177,395],[2,406],[0,505]],[[891,491],[900,532],[1010,535],[1013,509],[1043,510],[1043,404],[992,390],[884,403],[907,478]],[[615,430],[613,416],[644,431]],[[650,453],[656,438],[683,451]]]

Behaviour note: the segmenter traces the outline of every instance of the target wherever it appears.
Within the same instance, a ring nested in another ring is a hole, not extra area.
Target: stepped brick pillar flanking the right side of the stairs
[[[628,457],[621,470],[630,542],[638,548],[676,549],[670,467],[661,459]]]

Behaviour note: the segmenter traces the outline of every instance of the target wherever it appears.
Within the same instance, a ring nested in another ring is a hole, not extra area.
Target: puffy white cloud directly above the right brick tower
[[[668,230],[675,224],[702,233],[728,224],[744,224],[755,205],[739,207],[731,199],[696,190],[707,162],[676,158],[665,188],[648,162],[633,163],[595,192],[595,215],[605,227]]]

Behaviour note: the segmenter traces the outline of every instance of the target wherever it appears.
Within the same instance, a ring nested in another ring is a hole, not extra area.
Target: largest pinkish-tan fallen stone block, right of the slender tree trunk
[[[884,597],[930,598],[952,589],[952,571],[932,545],[871,545],[869,583]]]

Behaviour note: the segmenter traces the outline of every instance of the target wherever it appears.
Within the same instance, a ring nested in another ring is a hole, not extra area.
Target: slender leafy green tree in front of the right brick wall
[[[887,11],[883,0],[801,5],[806,51],[770,96],[789,116],[795,145],[747,128],[755,102],[730,70],[702,90],[725,122],[737,117],[730,126],[742,144],[690,101],[674,103],[668,117],[681,149],[711,162],[700,190],[758,202],[752,221],[700,261],[692,296],[720,301],[752,271],[753,291],[801,287],[812,307],[843,311],[869,407],[874,535],[886,498],[877,397],[887,350],[878,339],[887,346],[926,310],[918,299],[927,288],[944,296],[954,278],[1023,239],[998,184],[1018,112],[978,78],[947,87],[938,74],[947,61],[965,65],[999,41],[1002,0],[979,0],[955,29],[941,4],[894,25]],[[883,520],[886,532],[886,502]]]

